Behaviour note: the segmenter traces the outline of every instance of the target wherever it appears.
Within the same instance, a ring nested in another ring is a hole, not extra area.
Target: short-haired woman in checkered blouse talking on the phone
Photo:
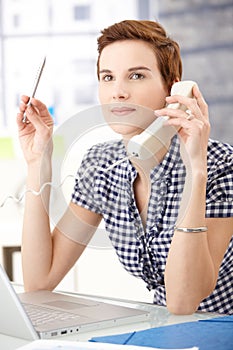
[[[197,86],[194,98],[168,97],[181,80],[182,63],[178,44],[161,25],[114,24],[102,31],[98,51],[100,103],[114,105],[112,113],[119,118],[114,130],[122,140],[93,146],[84,157],[67,212],[52,234],[49,188],[43,198],[27,193],[26,290],[55,288],[103,218],[120,261],[155,290],[154,303],[175,314],[232,313],[233,149],[209,139],[208,107]],[[51,179],[52,118],[42,102],[33,99],[27,106],[28,100],[22,96],[17,123],[27,187],[38,191]],[[166,108],[177,102],[191,118]],[[146,161],[130,158],[114,171],[100,171],[124,158],[128,140],[152,122],[148,118],[135,125],[128,108],[133,104],[169,116],[166,124],[179,129],[178,137]],[[22,122],[24,113],[29,123]]]

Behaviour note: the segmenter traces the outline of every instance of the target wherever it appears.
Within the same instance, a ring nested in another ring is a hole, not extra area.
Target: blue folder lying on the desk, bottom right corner
[[[233,316],[179,323],[126,334],[96,337],[92,338],[91,341],[166,349],[182,349],[197,346],[200,350],[232,350]]]

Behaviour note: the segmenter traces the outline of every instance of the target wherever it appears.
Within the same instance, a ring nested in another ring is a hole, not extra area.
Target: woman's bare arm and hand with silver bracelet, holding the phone
[[[165,269],[168,309],[176,314],[195,312],[200,302],[215,288],[218,271],[233,233],[233,218],[206,219],[208,106],[197,86],[193,99],[180,96],[167,102],[180,102],[191,111],[164,109],[157,115],[169,115],[169,125],[180,127],[181,155],[186,181],[180,203],[178,228],[207,227],[206,232],[174,231]],[[158,113],[157,113],[158,112]],[[188,194],[188,195],[187,195]]]

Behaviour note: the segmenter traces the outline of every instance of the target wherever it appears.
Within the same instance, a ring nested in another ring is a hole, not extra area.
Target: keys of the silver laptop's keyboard
[[[23,306],[34,326],[40,326],[56,320],[64,321],[79,318],[78,315],[71,312],[57,311],[39,305],[23,304]]]

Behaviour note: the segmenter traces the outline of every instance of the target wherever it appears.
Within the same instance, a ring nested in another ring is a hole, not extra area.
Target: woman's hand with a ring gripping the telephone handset
[[[155,111],[157,116],[170,117],[164,125],[178,129],[181,139],[181,155],[186,167],[203,169],[207,161],[207,145],[210,133],[208,105],[197,85],[193,87],[193,98],[173,95],[166,98],[168,104],[180,103],[187,107],[180,109],[163,108]]]

